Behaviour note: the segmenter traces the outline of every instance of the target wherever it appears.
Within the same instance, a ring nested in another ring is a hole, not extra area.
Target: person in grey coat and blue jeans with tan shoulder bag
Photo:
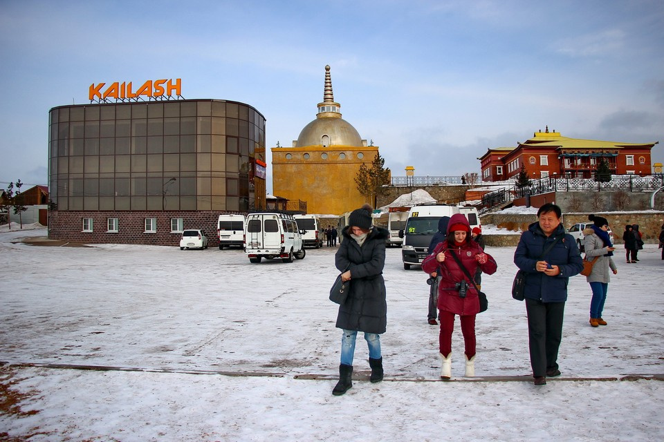
[[[607,321],[602,319],[602,311],[607,300],[607,291],[609,290],[609,272],[618,274],[618,267],[611,256],[614,255],[614,244],[611,244],[609,238],[609,222],[606,218],[598,215],[589,215],[588,219],[593,222],[584,229],[583,247],[586,251],[586,260],[595,260],[593,270],[586,281],[590,284],[593,291],[593,298],[590,301],[590,325],[598,327],[607,325]]]

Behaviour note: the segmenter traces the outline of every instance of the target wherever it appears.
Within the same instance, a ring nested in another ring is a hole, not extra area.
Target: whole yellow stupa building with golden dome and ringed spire
[[[342,119],[340,107],[332,93],[330,66],[325,66],[323,102],[316,119],[304,126],[292,147],[270,149],[274,195],[305,201],[307,213],[341,215],[367,202],[355,177],[360,164],[370,166],[378,146],[362,140]]]

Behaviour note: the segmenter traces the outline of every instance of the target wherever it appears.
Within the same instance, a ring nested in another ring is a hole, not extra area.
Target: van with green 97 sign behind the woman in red
[[[429,251],[429,243],[438,231],[438,222],[443,216],[450,218],[459,213],[459,207],[448,204],[418,204],[408,212],[406,227],[403,233],[401,259],[403,268],[421,265]]]

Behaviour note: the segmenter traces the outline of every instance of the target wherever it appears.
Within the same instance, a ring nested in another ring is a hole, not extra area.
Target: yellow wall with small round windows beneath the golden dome
[[[322,215],[340,215],[369,202],[358,192],[355,177],[363,162],[370,165],[378,146],[306,146],[273,147],[273,195],[288,200],[306,201],[306,211]],[[291,159],[286,159],[286,154]],[[308,153],[308,160],[304,154]],[[321,154],[326,153],[323,160]],[[339,159],[344,153],[346,158]],[[358,159],[358,153],[364,154]]]

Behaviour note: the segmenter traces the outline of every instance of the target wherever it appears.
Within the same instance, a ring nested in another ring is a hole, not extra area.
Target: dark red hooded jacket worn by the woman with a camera
[[[497,264],[495,259],[483,251],[477,242],[470,239],[470,224],[468,224],[468,220],[463,213],[452,215],[448,223],[448,234],[450,233],[450,227],[454,224],[463,224],[468,227],[468,235],[465,237],[466,239],[461,247],[454,244],[454,242],[448,244],[447,240],[440,242],[434,248],[433,253],[423,260],[422,269],[427,273],[432,273],[433,271],[440,272],[441,282],[438,287],[438,308],[440,310],[450,311],[460,316],[476,315],[479,313],[477,290],[475,290],[468,276],[465,276],[457,261],[454,260],[452,253],[461,260],[463,267],[468,270],[471,278],[478,267],[488,275],[495,273]],[[436,255],[441,253],[441,251],[445,251],[445,261],[438,262]],[[485,253],[488,258],[484,264],[479,264],[475,258],[480,253]],[[465,280],[468,283],[468,291],[465,298],[459,297],[459,291],[456,287],[457,282],[461,282],[461,280]]]

